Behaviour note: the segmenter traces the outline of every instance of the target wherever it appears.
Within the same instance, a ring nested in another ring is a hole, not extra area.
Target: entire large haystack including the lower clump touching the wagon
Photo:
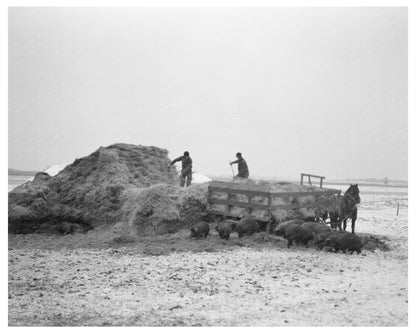
[[[190,193],[204,189],[179,189],[169,163],[165,149],[114,144],[76,159],[54,177],[39,173],[9,192],[9,232],[31,233],[64,221],[85,229],[143,223],[138,229],[147,230],[150,224],[156,231],[165,230],[158,223],[185,219],[186,224],[187,205],[204,210]],[[195,197],[203,197],[201,193]]]

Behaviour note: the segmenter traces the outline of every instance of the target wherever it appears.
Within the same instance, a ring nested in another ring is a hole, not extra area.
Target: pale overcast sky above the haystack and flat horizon
[[[407,179],[407,9],[11,8],[9,167],[116,142],[194,170]]]

